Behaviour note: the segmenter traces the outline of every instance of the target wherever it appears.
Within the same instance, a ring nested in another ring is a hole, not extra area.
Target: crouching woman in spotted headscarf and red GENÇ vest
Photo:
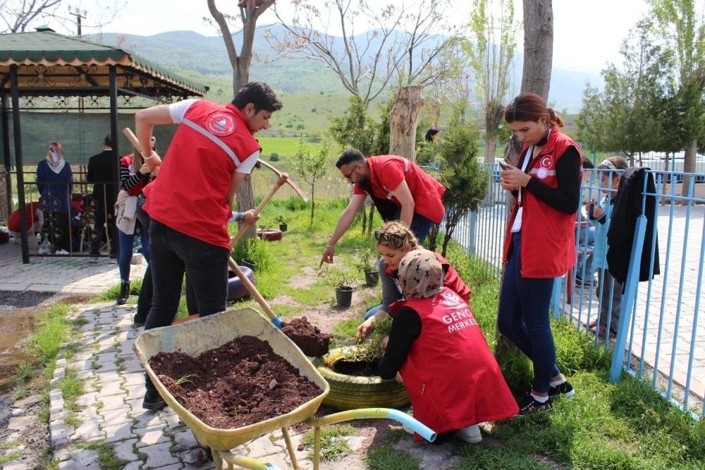
[[[410,251],[401,260],[406,300],[393,308],[379,375],[400,373],[414,418],[438,434],[434,443],[453,435],[480,442],[477,423],[509,418],[519,408],[470,307],[443,287],[442,275],[432,251]]]

